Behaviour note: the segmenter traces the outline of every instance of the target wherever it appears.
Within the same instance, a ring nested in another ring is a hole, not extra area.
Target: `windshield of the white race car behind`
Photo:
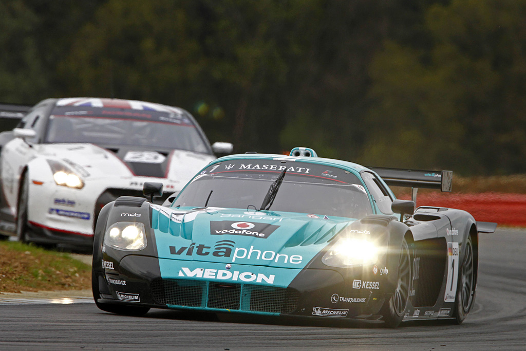
[[[92,143],[182,149],[210,153],[196,125],[182,111],[57,106],[45,143]]]

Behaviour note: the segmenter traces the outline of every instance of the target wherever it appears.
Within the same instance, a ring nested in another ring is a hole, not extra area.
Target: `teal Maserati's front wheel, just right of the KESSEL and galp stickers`
[[[411,283],[411,257],[406,238],[400,246],[400,260],[398,262],[398,284],[393,296],[383,304],[380,314],[387,328],[396,328],[406,313],[409,302],[409,285]]]

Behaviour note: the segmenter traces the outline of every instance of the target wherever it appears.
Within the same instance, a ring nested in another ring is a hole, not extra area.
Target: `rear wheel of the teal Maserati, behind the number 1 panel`
[[[457,284],[457,296],[453,312],[454,324],[464,322],[475,301],[475,256],[471,236],[468,236],[466,249],[464,249],[464,259],[460,267],[461,274]]]

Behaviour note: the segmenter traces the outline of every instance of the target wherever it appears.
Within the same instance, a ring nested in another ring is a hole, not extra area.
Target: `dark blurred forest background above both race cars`
[[[0,0],[0,102],[187,109],[235,152],[526,173],[523,0]]]

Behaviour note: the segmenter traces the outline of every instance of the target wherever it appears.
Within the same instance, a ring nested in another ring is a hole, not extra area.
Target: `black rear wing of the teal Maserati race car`
[[[412,200],[416,203],[418,188],[440,189],[451,192],[453,171],[421,171],[385,167],[368,167],[375,171],[387,185],[411,187]]]

